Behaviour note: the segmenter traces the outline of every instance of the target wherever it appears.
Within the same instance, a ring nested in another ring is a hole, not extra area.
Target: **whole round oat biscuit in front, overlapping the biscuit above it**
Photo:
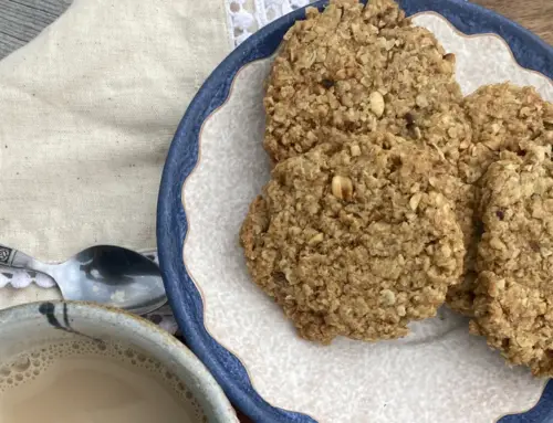
[[[435,315],[461,273],[461,231],[429,183],[450,166],[434,150],[377,137],[323,142],[278,163],[243,223],[254,283],[305,339],[405,336],[409,321]]]

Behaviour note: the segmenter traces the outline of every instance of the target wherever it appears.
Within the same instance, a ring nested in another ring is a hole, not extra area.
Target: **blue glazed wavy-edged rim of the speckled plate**
[[[327,0],[312,4],[322,8]],[[465,35],[495,34],[509,45],[524,68],[553,78],[553,47],[507,18],[465,0],[400,0],[407,14],[431,11],[445,17]],[[157,209],[159,264],[177,322],[189,348],[211,371],[230,401],[255,422],[315,422],[312,417],[278,409],[253,389],[248,372],[232,353],[221,347],[204,326],[201,295],[182,260],[188,222],[182,207],[182,187],[198,162],[199,134],[205,120],[229,96],[236,74],[247,64],[270,56],[284,32],[304,18],[304,8],[270,23],[251,35],[211,73],[182,117],[164,167]],[[501,423],[545,422],[553,419],[553,382],[531,410],[505,415]],[[546,420],[547,419],[547,420]]]

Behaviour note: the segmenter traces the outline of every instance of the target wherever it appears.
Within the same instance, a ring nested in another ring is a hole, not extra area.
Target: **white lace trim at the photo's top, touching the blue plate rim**
[[[234,46],[260,28],[315,0],[226,0]]]

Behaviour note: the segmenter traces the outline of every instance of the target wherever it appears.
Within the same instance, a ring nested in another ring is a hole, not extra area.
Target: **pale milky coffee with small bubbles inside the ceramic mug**
[[[0,363],[0,423],[207,422],[191,392],[121,343],[71,340]]]

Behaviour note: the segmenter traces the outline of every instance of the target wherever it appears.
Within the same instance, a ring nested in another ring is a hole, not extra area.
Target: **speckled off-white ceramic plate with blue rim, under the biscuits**
[[[322,4],[320,4],[322,6]],[[469,94],[483,84],[534,85],[553,101],[553,50],[461,0],[404,0],[415,23],[457,55]],[[238,47],[201,87],[173,141],[158,210],[160,264],[190,348],[257,422],[550,422],[553,384],[508,368],[442,309],[389,342],[295,335],[249,279],[238,232],[269,178],[263,81],[296,11]]]

